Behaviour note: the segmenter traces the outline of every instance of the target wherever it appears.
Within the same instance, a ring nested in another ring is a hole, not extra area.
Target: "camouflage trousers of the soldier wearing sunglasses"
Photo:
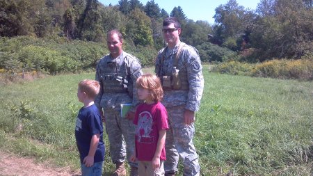
[[[179,157],[184,166],[183,175],[200,175],[198,154],[193,145],[195,126],[184,125],[185,106],[167,108],[170,129],[166,131],[166,173],[176,173]]]

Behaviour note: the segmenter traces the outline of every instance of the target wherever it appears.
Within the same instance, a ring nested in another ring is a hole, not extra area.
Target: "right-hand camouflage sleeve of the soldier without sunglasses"
[[[141,63],[139,63],[137,58],[134,58],[133,61],[131,61],[131,64],[129,65],[129,71],[130,71],[130,77],[131,77],[131,82],[133,85],[133,106],[131,106],[130,111],[135,112],[136,105],[139,104],[139,99],[137,97],[137,88],[136,88],[136,81],[138,77],[143,75],[143,71],[141,70]]]

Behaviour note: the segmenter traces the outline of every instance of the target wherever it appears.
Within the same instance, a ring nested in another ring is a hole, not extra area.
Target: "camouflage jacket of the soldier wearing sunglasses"
[[[178,56],[177,69],[188,79],[188,90],[164,90],[162,104],[166,108],[171,106],[186,105],[186,109],[198,111],[200,99],[204,88],[202,65],[198,51],[190,45],[183,44],[181,53]],[[171,51],[165,47],[159,51],[156,59],[155,72],[162,77],[170,75],[174,67],[175,54],[178,45]],[[163,61],[163,63],[162,63]]]

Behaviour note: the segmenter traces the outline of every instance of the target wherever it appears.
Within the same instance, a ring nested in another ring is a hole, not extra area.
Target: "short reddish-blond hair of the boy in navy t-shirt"
[[[83,81],[79,82],[79,90],[85,92],[86,95],[91,99],[95,99],[99,93],[100,84],[95,80],[84,79]]]

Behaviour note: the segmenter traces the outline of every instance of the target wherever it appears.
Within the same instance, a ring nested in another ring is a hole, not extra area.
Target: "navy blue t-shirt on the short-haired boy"
[[[81,108],[77,115],[75,138],[79,150],[81,163],[88,155],[91,137],[99,134],[99,143],[95,152],[94,162],[104,161],[105,145],[103,142],[103,125],[99,110],[95,104]]]

